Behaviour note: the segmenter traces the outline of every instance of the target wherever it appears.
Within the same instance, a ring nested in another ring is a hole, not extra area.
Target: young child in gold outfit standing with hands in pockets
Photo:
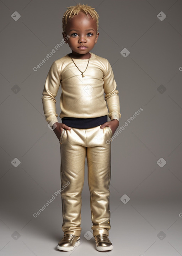
[[[53,62],[42,93],[45,119],[60,143],[64,237],[57,248],[63,251],[71,251],[80,243],[85,157],[96,249],[113,249],[108,239],[111,144],[106,141],[119,126],[121,114],[111,65],[90,52],[99,35],[99,16],[94,9],[77,4],[64,13],[63,37],[71,53]],[[55,107],[60,84],[62,123],[58,122]],[[111,121],[107,121],[108,116]]]

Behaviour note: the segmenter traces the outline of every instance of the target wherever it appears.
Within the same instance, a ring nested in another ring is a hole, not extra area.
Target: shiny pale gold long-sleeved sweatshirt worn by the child
[[[45,120],[50,126],[58,122],[55,97],[60,84],[62,89],[60,118],[92,118],[108,115],[111,120],[119,120],[121,117],[112,67],[107,59],[92,52],[90,54],[90,60],[73,58],[82,72],[86,69],[89,60],[89,65],[84,72],[85,77],[82,77],[68,54],[55,60],[51,65],[41,98]]]

